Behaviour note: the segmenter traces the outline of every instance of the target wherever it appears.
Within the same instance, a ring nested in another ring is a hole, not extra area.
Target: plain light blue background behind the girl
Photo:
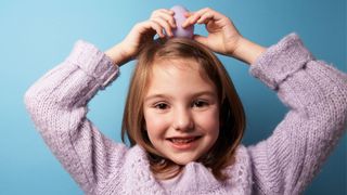
[[[24,104],[26,89],[62,62],[78,39],[106,50],[158,8],[210,6],[232,18],[242,35],[271,46],[296,31],[309,50],[338,69],[346,68],[345,0],[267,1],[20,1],[0,2],[0,194],[82,194],[36,132]],[[204,28],[196,31],[205,35]],[[274,92],[248,75],[241,62],[221,56],[248,117],[245,144],[270,135],[287,108]],[[90,103],[89,117],[120,141],[120,121],[133,63]],[[305,194],[346,194],[346,135]]]

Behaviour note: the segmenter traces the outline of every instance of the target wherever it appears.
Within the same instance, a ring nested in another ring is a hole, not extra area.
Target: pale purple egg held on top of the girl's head
[[[175,20],[177,28],[172,29],[174,37],[192,38],[194,35],[194,25],[182,28],[182,24],[185,21],[184,13],[189,12],[184,6],[175,5],[170,10],[175,12]]]

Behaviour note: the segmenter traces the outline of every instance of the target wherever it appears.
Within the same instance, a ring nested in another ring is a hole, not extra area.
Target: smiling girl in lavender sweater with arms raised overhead
[[[174,12],[154,11],[105,53],[77,42],[27,91],[46,143],[87,194],[299,194],[344,133],[347,76],[316,61],[295,34],[264,49],[211,9],[188,13],[182,27],[194,24],[208,36],[172,38]],[[290,106],[269,139],[240,143],[244,110],[213,52],[249,64]],[[134,57],[123,122],[128,148],[86,115],[91,98]]]

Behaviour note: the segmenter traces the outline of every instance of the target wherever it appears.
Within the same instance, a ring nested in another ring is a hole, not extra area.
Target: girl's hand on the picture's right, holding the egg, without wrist
[[[207,37],[194,35],[193,39],[203,43],[210,50],[223,55],[233,56],[242,36],[226,15],[205,8],[196,12],[189,12],[182,27],[194,24],[205,24],[208,31]]]

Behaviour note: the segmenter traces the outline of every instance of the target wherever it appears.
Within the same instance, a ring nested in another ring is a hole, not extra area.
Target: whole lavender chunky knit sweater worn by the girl
[[[273,134],[254,146],[240,145],[235,164],[224,170],[231,176],[226,182],[198,162],[160,182],[140,146],[113,142],[86,117],[90,99],[117,73],[103,52],[79,41],[25,94],[37,129],[86,194],[299,194],[347,123],[347,75],[316,61],[292,34],[250,67],[290,107]]]

